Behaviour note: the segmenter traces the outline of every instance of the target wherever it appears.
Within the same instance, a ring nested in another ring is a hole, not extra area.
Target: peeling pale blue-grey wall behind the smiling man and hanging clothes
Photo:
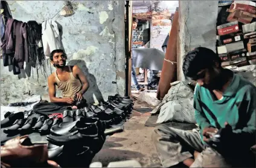
[[[7,1],[13,18],[27,22],[51,19],[64,6],[63,1]],[[54,20],[62,26],[62,43],[68,64],[78,64],[86,73],[90,87],[85,94],[89,102],[124,94],[124,1],[74,1],[75,14]],[[13,75],[1,61],[1,105],[23,101],[30,95],[48,99],[46,78],[54,71],[48,65],[46,74],[36,70],[30,78]],[[60,93],[57,95],[60,96]]]

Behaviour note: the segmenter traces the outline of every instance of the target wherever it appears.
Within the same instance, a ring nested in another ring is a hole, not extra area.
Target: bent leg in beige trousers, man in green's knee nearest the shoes
[[[198,132],[159,125],[154,129],[152,139],[163,167],[179,164],[193,157],[194,151],[203,150]]]

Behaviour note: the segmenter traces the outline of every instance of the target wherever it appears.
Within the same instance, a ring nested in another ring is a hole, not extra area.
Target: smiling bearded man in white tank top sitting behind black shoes
[[[56,72],[48,77],[48,92],[51,102],[72,105],[75,96],[77,101],[83,99],[89,83],[77,65],[66,66],[66,59],[66,54],[62,49],[51,52],[50,60],[51,64],[56,67]],[[62,98],[56,97],[56,86],[62,91]]]

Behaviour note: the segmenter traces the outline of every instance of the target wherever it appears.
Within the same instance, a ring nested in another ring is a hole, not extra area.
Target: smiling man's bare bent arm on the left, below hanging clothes
[[[63,98],[56,98],[56,88],[53,75],[48,77],[48,93],[51,102],[66,102]]]

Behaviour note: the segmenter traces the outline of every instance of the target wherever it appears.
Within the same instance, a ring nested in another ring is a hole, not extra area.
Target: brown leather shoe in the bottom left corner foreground
[[[1,146],[1,167],[49,167],[47,160],[47,146],[33,145],[28,135],[8,140]]]

